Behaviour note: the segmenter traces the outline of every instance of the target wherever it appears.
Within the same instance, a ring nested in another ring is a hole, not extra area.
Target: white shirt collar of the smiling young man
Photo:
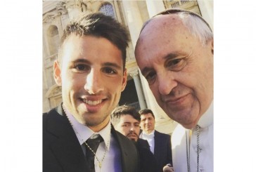
[[[75,117],[70,112],[68,112],[66,108],[65,108],[65,113],[67,114],[68,119],[72,123],[72,128],[74,129],[75,134],[77,135],[77,139],[79,140],[80,145],[82,145],[92,135],[99,134],[103,138],[104,143],[109,150],[110,144],[108,142],[110,142],[110,133],[111,133],[110,121],[108,121],[107,126],[105,126],[105,128],[103,128],[101,131],[94,132],[88,126],[85,126],[84,124],[79,123],[77,119],[75,119]]]

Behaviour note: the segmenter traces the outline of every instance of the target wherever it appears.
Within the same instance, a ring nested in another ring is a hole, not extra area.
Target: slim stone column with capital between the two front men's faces
[[[138,72],[138,70],[134,70],[132,72],[129,72],[129,75],[134,79],[136,92],[137,92],[137,95],[139,98],[139,105],[140,105],[141,109],[145,109],[146,102],[144,100],[144,95],[143,95],[143,91],[142,91],[142,87],[141,87],[141,81],[139,79],[139,72]]]

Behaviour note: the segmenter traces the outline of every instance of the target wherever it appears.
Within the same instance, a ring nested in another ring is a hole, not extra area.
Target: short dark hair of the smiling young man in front
[[[114,18],[104,15],[103,13],[84,13],[79,18],[72,20],[63,31],[61,46],[65,39],[71,34],[79,37],[87,35],[94,37],[103,37],[108,39],[112,44],[122,52],[123,69],[126,62],[126,48],[128,47],[129,35],[127,29],[117,22]],[[61,62],[62,48],[58,54],[58,60]]]

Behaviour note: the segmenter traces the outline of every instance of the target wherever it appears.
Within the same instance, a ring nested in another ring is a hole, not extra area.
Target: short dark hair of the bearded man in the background
[[[118,124],[120,122],[120,117],[127,114],[131,115],[132,117],[134,117],[134,119],[141,122],[141,116],[135,107],[122,105],[115,107],[115,110],[113,110],[111,114],[111,118],[113,119],[113,125],[115,126],[116,124]]]

